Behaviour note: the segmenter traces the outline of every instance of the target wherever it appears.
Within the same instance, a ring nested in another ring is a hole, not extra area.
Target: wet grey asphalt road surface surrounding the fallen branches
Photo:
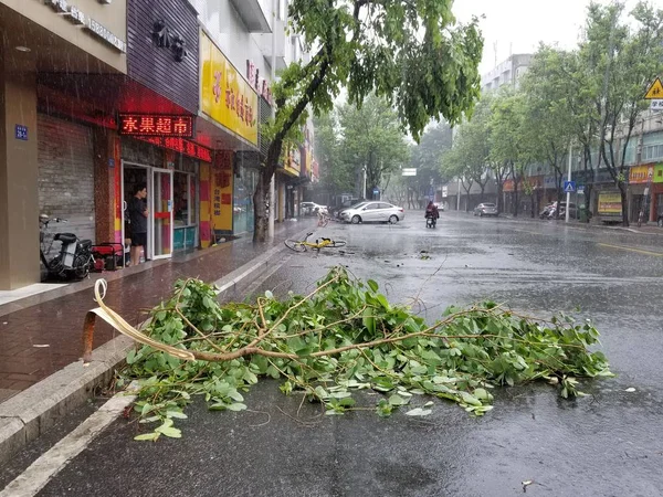
[[[179,441],[135,443],[137,425],[118,420],[40,495],[511,496],[523,480],[535,496],[663,495],[663,236],[451,213],[427,230],[412,212],[317,233],[346,240],[346,252],[284,253],[254,290],[308,292],[344,264],[430,320],[485,298],[576,310],[594,320],[618,377],[576,401],[547,385],[505,389],[481,419],[435,401],[421,420],[298,412],[299,398],[265,382],[249,412],[192,406]]]

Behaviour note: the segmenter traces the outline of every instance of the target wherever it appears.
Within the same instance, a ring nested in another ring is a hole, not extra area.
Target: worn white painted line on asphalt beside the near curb
[[[0,497],[33,497],[46,486],[110,423],[130,405],[136,395],[117,393],[102,408],[81,423],[69,435],[42,454],[28,469],[11,482]]]

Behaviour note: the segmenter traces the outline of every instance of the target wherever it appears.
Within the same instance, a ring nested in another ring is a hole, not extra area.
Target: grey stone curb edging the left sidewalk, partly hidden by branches
[[[293,236],[299,237],[309,230]],[[286,247],[275,245],[264,254],[238,267],[214,282],[219,297],[240,292],[240,284],[249,285],[246,278],[255,279],[269,267],[270,258]],[[0,464],[53,426],[57,420],[83,405],[94,395],[97,387],[106,384],[115,371],[124,366],[134,340],[119,336],[96,348],[92,361],[73,362],[51,374],[28,390],[0,404]]]

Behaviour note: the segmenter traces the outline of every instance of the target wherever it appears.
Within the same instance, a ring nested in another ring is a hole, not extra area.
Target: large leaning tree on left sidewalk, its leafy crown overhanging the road
[[[456,24],[452,0],[293,0],[292,28],[309,62],[295,62],[274,85],[276,116],[263,129],[271,139],[253,203],[254,241],[267,232],[266,194],[283,144],[308,112],[320,115],[345,86],[361,106],[371,93],[393,104],[402,127],[418,140],[431,118],[459,123],[480,92],[483,39],[476,19]]]

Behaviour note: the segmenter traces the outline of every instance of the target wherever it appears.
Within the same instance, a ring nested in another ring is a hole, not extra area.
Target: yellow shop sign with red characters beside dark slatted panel
[[[204,33],[200,33],[201,108],[217,123],[257,145],[257,94]]]

